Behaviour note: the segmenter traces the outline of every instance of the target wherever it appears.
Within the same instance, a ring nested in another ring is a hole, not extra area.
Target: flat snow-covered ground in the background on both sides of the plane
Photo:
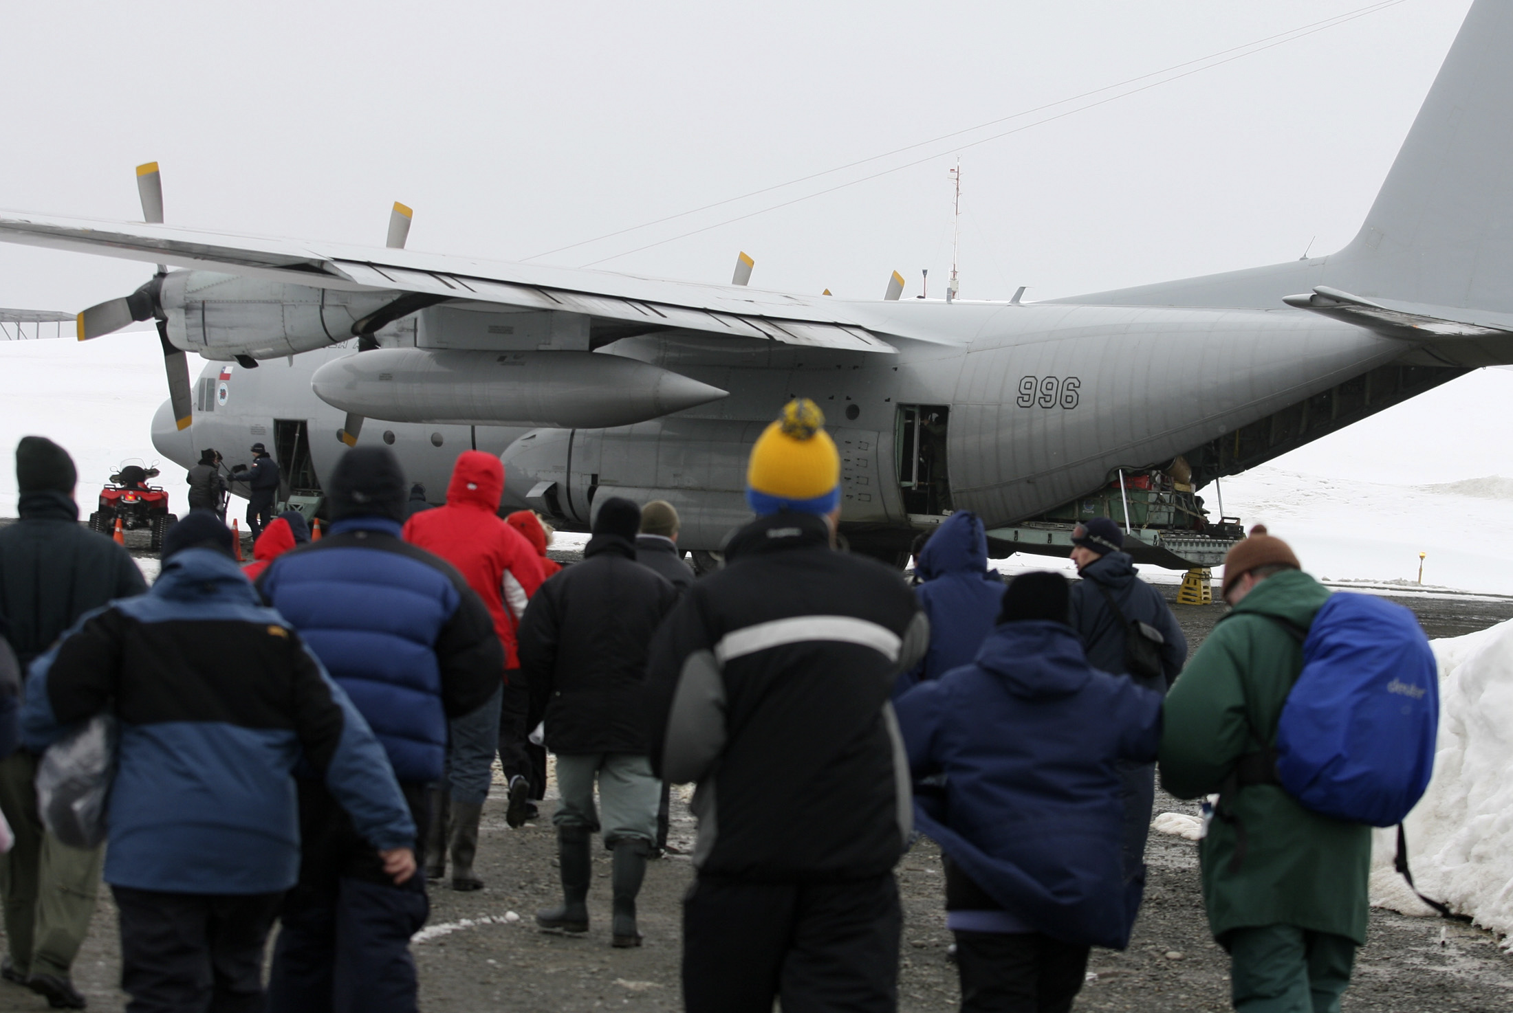
[[[121,461],[159,460],[150,426],[163,398],[153,331],[0,342],[0,517],[15,516],[9,452],[20,437],[36,432],[68,448],[88,514]],[[1427,552],[1425,584],[1513,594],[1508,404],[1513,372],[1484,369],[1203,493],[1210,508],[1221,493],[1227,514],[1288,538],[1318,576],[1416,581],[1418,553]],[[182,505],[183,472],[162,464],[156,481]],[[999,565],[1012,573],[1058,562],[1021,555]]]

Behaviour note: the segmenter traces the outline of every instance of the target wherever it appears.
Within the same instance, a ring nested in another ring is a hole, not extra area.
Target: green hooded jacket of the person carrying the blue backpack
[[[1300,570],[1257,584],[1226,615],[1167,695],[1160,780],[1173,795],[1218,792],[1236,762],[1275,745],[1277,721],[1303,670],[1303,647],[1274,615],[1309,627],[1328,590]],[[1198,848],[1209,928],[1297,925],[1366,942],[1371,827],[1321,816],[1277,785],[1241,788],[1224,800],[1245,830],[1215,816]]]

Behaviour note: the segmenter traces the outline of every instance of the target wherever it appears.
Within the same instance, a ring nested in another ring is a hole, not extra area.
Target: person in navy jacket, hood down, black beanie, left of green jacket
[[[976,661],[896,703],[962,1010],[1070,1010],[1089,946],[1123,949],[1139,910],[1117,764],[1156,756],[1160,694],[1092,668],[1067,612],[1061,575],[1015,578]]]

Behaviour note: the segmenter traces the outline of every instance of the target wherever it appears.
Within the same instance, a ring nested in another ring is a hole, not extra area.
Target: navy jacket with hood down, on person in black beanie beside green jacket
[[[1141,898],[1124,881],[1117,761],[1154,759],[1160,697],[1036,620],[999,626],[897,712],[914,777],[946,776],[943,801],[915,800],[917,826],[1003,909],[990,931],[1123,949]]]

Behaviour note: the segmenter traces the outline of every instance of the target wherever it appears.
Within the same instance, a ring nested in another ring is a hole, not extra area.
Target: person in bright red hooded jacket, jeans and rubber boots
[[[531,543],[499,519],[502,493],[504,464],[499,458],[480,451],[463,451],[446,487],[446,505],[418,513],[404,522],[405,541],[451,562],[461,572],[468,587],[483,597],[505,653],[505,670],[496,695],[501,703],[452,721],[445,779],[448,791],[437,791],[436,795],[437,815],[449,807],[451,818],[431,821],[433,838],[425,851],[425,872],[428,878],[442,878],[446,872],[442,835],[448,835],[452,889],[457,891],[483,888],[483,880],[474,875],[472,863],[478,851],[478,819],[489,797],[493,753],[496,747],[502,751],[501,730],[508,726],[517,733],[513,751],[520,753],[522,761],[528,735],[525,720],[530,694],[519,671],[514,630],[527,600],[542,585],[542,567]],[[520,703],[516,706],[517,699]],[[522,777],[525,770],[505,767],[504,773],[510,783],[505,819],[517,827],[525,822],[530,785]]]

